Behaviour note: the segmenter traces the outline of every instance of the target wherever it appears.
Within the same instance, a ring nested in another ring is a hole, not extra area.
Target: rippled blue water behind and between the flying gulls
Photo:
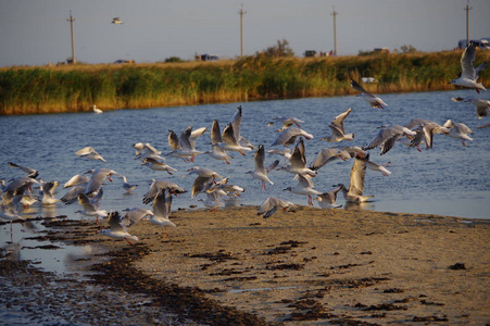
[[[62,185],[73,175],[81,174],[90,168],[110,167],[127,176],[128,180],[138,184],[134,193],[124,193],[122,180],[113,178],[106,181],[102,209],[121,211],[126,208],[145,206],[142,196],[148,190],[152,178],[172,180],[190,191],[194,176],[187,175],[187,170],[198,165],[216,171],[229,177],[231,184],[246,188],[246,192],[235,204],[259,205],[268,196],[277,196],[297,204],[306,204],[306,197],[282,191],[293,186],[292,175],[285,172],[272,172],[269,177],[275,183],[267,185],[267,190],[261,188],[260,181],[244,174],[253,170],[253,152],[247,156],[234,153],[235,159],[227,165],[208,155],[199,155],[194,163],[185,163],[180,159],[167,158],[166,162],[178,170],[174,175],[165,172],[153,172],[140,165],[135,160],[133,145],[135,142],[150,142],[156,149],[169,151],[167,143],[168,130],[180,134],[187,126],[211,127],[212,121],[217,118],[223,128],[231,120],[238,105],[243,108],[241,134],[252,143],[272,149],[271,143],[276,137],[275,127],[266,127],[266,123],[275,116],[296,116],[305,121],[302,127],[314,135],[314,139],[306,140],[306,159],[312,162],[315,153],[324,147],[335,146],[321,141],[329,134],[328,123],[348,108],[353,111],[344,122],[347,131],[355,133],[352,142],[338,145],[366,145],[376,134],[377,126],[386,124],[406,124],[411,118],[420,117],[443,124],[448,118],[463,122],[474,129],[474,141],[467,141],[463,147],[460,140],[443,135],[436,135],[434,149],[418,152],[415,149],[397,145],[385,155],[379,150],[372,150],[370,159],[377,163],[391,162],[388,167],[392,174],[382,176],[367,171],[365,195],[374,195],[374,202],[365,203],[361,208],[376,211],[391,211],[405,213],[428,213],[452,215],[470,218],[489,218],[488,201],[490,200],[490,128],[475,129],[486,122],[476,117],[475,109],[468,103],[454,103],[452,96],[475,97],[472,90],[417,92],[382,95],[389,104],[385,110],[372,109],[357,97],[309,98],[298,100],[260,101],[230,104],[210,104],[178,108],[155,108],[149,110],[120,110],[93,113],[65,113],[28,116],[2,116],[1,148],[2,162],[0,178],[10,179],[24,174],[7,165],[8,161],[29,166],[39,171],[43,180],[59,180],[56,198],[61,198],[66,190]],[[482,93],[485,97],[485,93]],[[199,150],[210,149],[209,130],[197,140]],[[106,163],[91,161],[76,156],[75,151],[91,146],[105,158]],[[266,164],[278,156],[266,156]],[[332,185],[349,184],[349,173],[353,161],[335,162],[319,170],[314,178],[315,188],[329,191]],[[203,206],[198,199],[191,199],[190,193],[177,197],[173,210]],[[344,204],[343,198],[338,203]],[[147,206],[151,209],[150,206]],[[350,209],[352,205],[344,205]],[[356,205],[355,208],[360,208]],[[38,203],[28,209],[30,216],[54,217],[67,215],[68,218],[81,218],[75,214],[79,210],[78,203],[64,205],[56,203],[42,206]],[[26,212],[22,212],[26,213]],[[16,228],[18,224],[14,225]],[[10,226],[0,227],[0,244],[10,238]],[[15,229],[14,237],[22,238]],[[24,247],[34,247],[25,244]],[[74,250],[74,249],[70,249]],[[68,251],[70,251],[68,250]],[[61,252],[62,250],[56,250]],[[49,252],[49,251],[48,251]],[[23,251],[25,258],[28,251]],[[33,255],[38,253],[34,252]],[[60,258],[48,258],[48,264],[53,269]],[[63,264],[61,264],[63,265]],[[54,267],[53,267],[54,266]]]

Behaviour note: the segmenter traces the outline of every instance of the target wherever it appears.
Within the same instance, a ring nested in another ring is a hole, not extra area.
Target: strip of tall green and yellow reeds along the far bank
[[[354,93],[349,80],[375,77],[373,92],[454,89],[460,51],[131,65],[0,70],[0,115],[176,106]],[[490,51],[478,51],[479,64]],[[490,68],[480,73],[490,85]]]

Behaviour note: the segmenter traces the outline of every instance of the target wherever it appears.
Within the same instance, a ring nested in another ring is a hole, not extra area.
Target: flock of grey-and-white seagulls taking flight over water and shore
[[[477,83],[478,73],[485,68],[486,63],[474,68],[474,61],[475,45],[472,42],[462,55],[461,77],[451,80],[451,83],[473,88],[479,92],[485,90],[485,87]],[[366,91],[355,80],[351,80],[350,85],[360,92],[360,96],[372,108],[385,109],[388,106],[379,97]],[[469,102],[477,106],[477,116],[479,118],[487,116],[490,109],[490,101],[483,99],[453,98],[453,101]],[[96,106],[93,106],[93,110],[96,110]],[[168,130],[168,146],[172,150],[167,153],[163,153],[148,142],[134,143],[135,160],[139,160],[141,166],[173,175],[177,170],[167,163],[167,160],[171,160],[171,158],[192,164],[197,156],[209,155],[214,160],[230,164],[231,160],[240,160],[241,156],[253,153],[254,170],[248,171],[246,174],[260,181],[264,197],[267,196],[267,186],[274,186],[274,178],[271,176],[271,173],[275,171],[284,172],[282,177],[290,176],[291,180],[291,185],[284,189],[285,191],[307,197],[309,205],[313,205],[313,200],[316,200],[319,208],[327,210],[327,212],[335,212],[335,209],[342,206],[337,204],[339,193],[343,195],[345,202],[362,203],[372,200],[373,195],[364,195],[366,170],[380,173],[382,176],[391,174],[387,168],[390,163],[379,164],[370,160],[373,150],[379,148],[380,155],[385,155],[397,143],[401,143],[422,151],[420,146],[423,145],[425,145],[426,149],[432,148],[434,137],[439,134],[460,139],[463,146],[466,145],[465,141],[473,140],[468,136],[472,134],[472,130],[463,123],[449,120],[440,125],[428,120],[414,118],[403,126],[388,125],[378,127],[376,134],[374,133],[373,139],[366,142],[364,147],[341,146],[339,145],[340,142],[345,143],[354,139],[354,133],[351,130],[351,133],[345,131],[349,129],[349,114],[352,110],[353,108],[349,108],[330,121],[328,124],[330,134],[322,138],[322,140],[332,145],[319,150],[310,164],[307,164],[305,155],[306,143],[314,138],[314,135],[302,128],[304,121],[291,116],[277,116],[268,122],[267,126],[276,125],[278,127],[275,130],[275,140],[271,143],[272,149],[266,151],[264,145],[252,145],[241,135],[240,126],[243,113],[241,106],[237,108],[223,133],[218,121],[214,120],[212,122],[209,136],[210,150],[198,150],[196,146],[196,140],[204,137],[208,127],[193,128],[189,126],[178,136],[173,130]],[[487,123],[479,128],[485,128],[489,125]],[[281,159],[266,162],[266,153],[280,155]],[[80,159],[99,161],[99,164],[106,164],[106,160],[92,147],[83,148],[76,151],[75,155]],[[247,159],[243,158],[241,160]],[[341,162],[353,162],[350,170],[349,185],[337,184],[332,186],[335,187],[332,190],[316,189],[313,183],[314,178],[321,174],[321,170],[325,165],[338,160]],[[127,193],[130,193],[138,187],[136,184],[130,184],[127,176],[114,170],[98,167],[84,174],[74,175],[63,185],[63,189],[66,190],[64,196],[56,199],[55,191],[60,186],[60,181],[43,181],[38,177],[39,172],[35,168],[21,166],[13,162],[8,162],[8,165],[22,171],[26,175],[10,180],[2,180],[0,218],[11,222],[15,220],[24,221],[25,218],[21,215],[22,208],[28,206],[36,201],[39,201],[42,205],[52,205],[59,202],[66,205],[78,204],[81,209],[76,211],[76,213],[95,217],[97,223],[99,223],[99,218],[108,218],[109,228],[101,230],[101,235],[126,239],[129,243],[138,241],[138,238],[130,235],[128,230],[133,225],[140,223],[140,221],[148,221],[148,223],[161,227],[176,227],[169,220],[173,198],[188,192],[188,190],[176,183],[152,178],[142,198],[142,204],[147,206],[127,208],[122,210],[121,214],[116,211],[108,213],[106,210],[102,209],[103,185],[106,180],[112,181],[112,177],[117,176],[123,180],[122,188]],[[223,206],[226,199],[236,199],[246,191],[243,187],[231,184],[229,177],[224,177],[215,171],[201,166],[188,168],[187,175],[194,176],[190,189],[191,199],[202,196],[203,198],[199,200],[212,211]],[[277,197],[267,197],[260,206],[257,215],[263,215],[264,218],[267,218],[279,210],[288,211],[293,208],[294,204],[290,201]]]

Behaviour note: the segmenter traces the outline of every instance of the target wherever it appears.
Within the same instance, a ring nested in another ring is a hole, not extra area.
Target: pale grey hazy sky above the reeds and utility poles
[[[70,11],[78,62],[192,60],[196,53],[240,55],[287,40],[306,50],[374,48],[451,50],[466,38],[467,0],[0,0],[0,66],[43,65],[72,55]],[[490,37],[490,1],[470,0],[469,37]],[[111,24],[120,17],[122,25]]]

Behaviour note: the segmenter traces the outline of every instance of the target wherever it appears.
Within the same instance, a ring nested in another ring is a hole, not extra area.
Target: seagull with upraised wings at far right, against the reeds
[[[475,90],[479,93],[480,90],[486,90],[486,88],[481,83],[477,83],[478,73],[487,66],[487,62],[481,63],[476,68],[473,66],[473,62],[476,59],[475,46],[475,42],[470,41],[463,51],[463,54],[461,55],[461,76],[460,78],[451,80],[449,84],[466,88],[475,88]]]

